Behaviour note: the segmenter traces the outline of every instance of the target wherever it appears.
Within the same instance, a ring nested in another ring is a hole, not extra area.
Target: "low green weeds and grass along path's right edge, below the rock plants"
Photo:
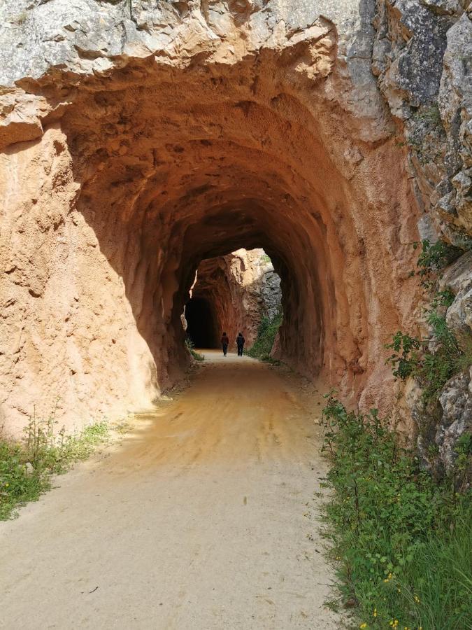
[[[347,412],[331,393],[323,413],[340,603],[363,629],[472,627],[470,491],[436,484],[376,409]]]

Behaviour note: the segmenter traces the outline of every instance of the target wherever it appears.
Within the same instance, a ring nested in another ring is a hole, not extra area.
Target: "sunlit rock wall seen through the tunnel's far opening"
[[[203,260],[196,274],[192,297],[205,300],[211,311],[213,343],[219,347],[223,331],[231,339],[243,332],[246,347],[257,337],[263,316],[273,317],[280,309],[280,278],[263,249],[238,249],[226,256]],[[203,322],[204,324],[205,322]]]

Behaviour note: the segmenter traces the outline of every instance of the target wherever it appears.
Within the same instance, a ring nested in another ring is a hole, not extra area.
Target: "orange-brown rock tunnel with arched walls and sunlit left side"
[[[20,426],[57,395],[74,421],[149,405],[189,364],[196,268],[241,247],[280,276],[283,360],[385,404],[417,210],[385,111],[355,97],[337,51],[320,18],[283,46],[25,81],[49,109],[41,139],[5,150],[3,417]]]

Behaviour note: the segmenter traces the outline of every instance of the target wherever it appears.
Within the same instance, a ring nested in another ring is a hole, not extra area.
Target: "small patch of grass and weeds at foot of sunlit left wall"
[[[64,428],[55,434],[56,424],[54,414],[45,421],[33,418],[22,442],[0,437],[0,520],[15,516],[15,508],[27,501],[37,500],[50,489],[52,475],[86,459],[108,438],[105,421],[75,435],[65,435]]]

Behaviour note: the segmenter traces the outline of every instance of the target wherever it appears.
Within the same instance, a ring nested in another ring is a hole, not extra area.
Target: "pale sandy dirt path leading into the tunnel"
[[[0,627],[339,627],[313,413],[293,377],[207,358],[177,400],[0,524]]]

